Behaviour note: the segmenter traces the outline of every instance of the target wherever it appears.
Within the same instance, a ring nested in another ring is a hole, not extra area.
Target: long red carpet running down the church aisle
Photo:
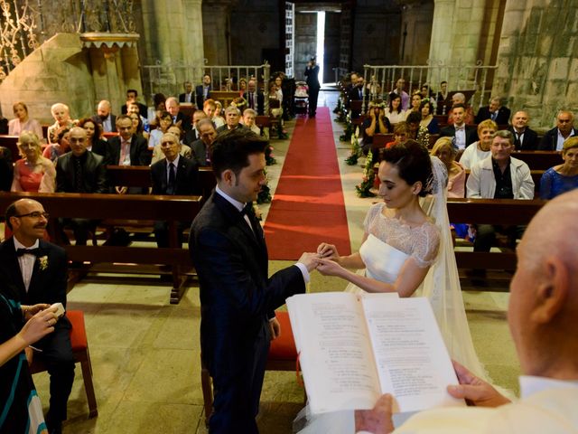
[[[322,241],[349,255],[350,234],[329,109],[297,119],[265,223],[269,259],[299,259]]]

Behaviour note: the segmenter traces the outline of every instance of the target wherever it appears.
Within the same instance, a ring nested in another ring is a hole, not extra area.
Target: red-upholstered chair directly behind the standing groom
[[[281,336],[275,341],[271,341],[265,369],[267,371],[294,371],[296,369],[297,350],[295,349],[289,314],[287,312],[275,312],[275,316],[281,325]],[[205,424],[209,425],[210,414],[213,410],[213,389],[209,370],[202,363],[202,355],[200,357],[200,385],[205,409]]]

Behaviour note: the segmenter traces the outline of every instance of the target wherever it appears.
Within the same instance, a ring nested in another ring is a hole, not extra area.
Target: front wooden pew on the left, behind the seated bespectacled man
[[[0,212],[21,198],[39,201],[51,214],[48,231],[51,240],[60,243],[74,262],[90,262],[76,276],[83,278],[89,271],[123,274],[166,274],[167,266],[172,274],[171,303],[181,300],[187,274],[192,270],[189,250],[182,249],[178,241],[179,220],[192,220],[200,211],[200,196],[168,196],[144,194],[98,194],[98,193],[0,193]],[[59,218],[89,218],[132,221],[162,220],[169,223],[168,248],[120,247],[120,246],[72,246],[65,245],[59,231]],[[71,273],[74,274],[74,273]],[[75,279],[70,282],[71,288]]]

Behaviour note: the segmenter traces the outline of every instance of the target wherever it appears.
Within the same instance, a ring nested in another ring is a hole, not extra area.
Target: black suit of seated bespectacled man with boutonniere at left
[[[17,300],[23,305],[60,302],[66,307],[67,259],[59,246],[40,240],[40,252],[34,261],[28,292],[24,287],[20,264],[14,250],[14,238],[0,244],[0,277],[18,288]],[[46,259],[42,259],[46,257]],[[46,263],[42,269],[41,261]],[[70,322],[66,316],[54,325],[54,333],[46,335],[34,347],[51,375],[50,415],[53,420],[66,420],[66,404],[74,382],[74,356],[70,346]]]

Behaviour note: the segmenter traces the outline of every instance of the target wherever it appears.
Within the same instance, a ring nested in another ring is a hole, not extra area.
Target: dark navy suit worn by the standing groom
[[[305,291],[295,266],[268,278],[261,226],[213,192],[191,225],[189,249],[200,281],[200,348],[213,378],[210,433],[256,433],[269,349],[269,318]]]

